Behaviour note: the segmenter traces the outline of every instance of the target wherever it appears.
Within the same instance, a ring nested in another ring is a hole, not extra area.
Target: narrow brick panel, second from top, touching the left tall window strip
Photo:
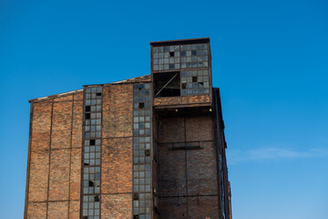
[[[70,200],[80,199],[81,149],[72,149],[70,169]]]

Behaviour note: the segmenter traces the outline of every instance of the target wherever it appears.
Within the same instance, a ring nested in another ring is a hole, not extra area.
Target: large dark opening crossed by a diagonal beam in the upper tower
[[[179,97],[179,71],[154,74],[155,97]]]

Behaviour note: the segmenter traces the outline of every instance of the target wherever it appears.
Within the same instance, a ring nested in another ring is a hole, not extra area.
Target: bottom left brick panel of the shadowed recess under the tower
[[[160,219],[187,219],[187,198],[160,198],[159,199]]]

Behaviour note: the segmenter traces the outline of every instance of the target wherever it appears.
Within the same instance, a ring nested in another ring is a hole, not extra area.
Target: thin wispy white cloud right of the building
[[[277,161],[282,159],[298,159],[328,157],[328,149],[313,148],[307,151],[296,151],[292,149],[282,149],[278,147],[258,148],[248,151],[231,150],[228,152],[228,161],[231,164],[239,162],[261,162],[261,161]]]

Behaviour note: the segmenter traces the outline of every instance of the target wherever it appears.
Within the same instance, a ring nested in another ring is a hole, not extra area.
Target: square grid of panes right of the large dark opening
[[[198,95],[210,93],[210,73],[208,69],[182,70],[181,95]]]

